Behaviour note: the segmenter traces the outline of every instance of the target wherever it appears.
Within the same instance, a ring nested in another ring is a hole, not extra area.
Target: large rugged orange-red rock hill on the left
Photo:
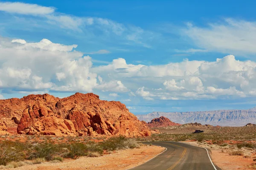
[[[63,99],[44,94],[0,100],[0,120],[7,128],[17,127],[17,133],[29,135],[151,134],[124,104],[100,100],[92,93],[76,93]]]

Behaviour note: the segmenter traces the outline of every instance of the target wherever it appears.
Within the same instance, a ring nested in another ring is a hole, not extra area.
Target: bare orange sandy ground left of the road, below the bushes
[[[118,150],[112,154],[90,158],[80,157],[76,160],[64,160],[60,163],[45,162],[24,165],[13,170],[126,170],[143,164],[164,150],[163,147],[143,145],[136,149]]]

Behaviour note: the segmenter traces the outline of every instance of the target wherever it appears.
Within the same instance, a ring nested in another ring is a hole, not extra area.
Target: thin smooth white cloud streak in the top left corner
[[[0,3],[0,11],[17,14],[44,15],[53,13],[55,8],[29,3]]]

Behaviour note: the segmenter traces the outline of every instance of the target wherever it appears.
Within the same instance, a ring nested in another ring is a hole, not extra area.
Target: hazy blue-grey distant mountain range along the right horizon
[[[145,122],[150,122],[154,118],[165,116],[172,122],[180,124],[198,122],[214,126],[244,126],[247,123],[256,123],[256,107],[248,110],[153,112],[136,116],[139,120],[144,120]]]

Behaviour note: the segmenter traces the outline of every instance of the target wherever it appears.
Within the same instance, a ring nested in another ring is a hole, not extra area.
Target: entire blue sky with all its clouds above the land
[[[132,113],[252,108],[255,3],[0,0],[0,98],[93,92]]]

